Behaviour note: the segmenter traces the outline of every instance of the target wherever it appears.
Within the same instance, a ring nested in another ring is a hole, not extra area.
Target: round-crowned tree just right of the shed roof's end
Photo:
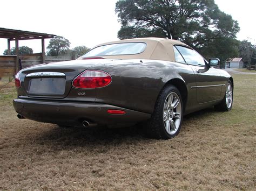
[[[47,47],[48,56],[59,56],[65,55],[69,50],[70,42],[64,37],[56,36],[50,40],[50,43]]]

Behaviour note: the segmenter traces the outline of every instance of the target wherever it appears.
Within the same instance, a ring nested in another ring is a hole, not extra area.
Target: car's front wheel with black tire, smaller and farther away
[[[230,92],[228,92],[229,91],[228,86],[230,86],[231,95],[230,95]],[[231,103],[229,103],[228,101],[231,101]],[[233,105],[233,86],[232,86],[232,82],[228,80],[223,100],[218,105],[215,105],[214,108],[218,111],[230,111],[232,109],[232,105]]]

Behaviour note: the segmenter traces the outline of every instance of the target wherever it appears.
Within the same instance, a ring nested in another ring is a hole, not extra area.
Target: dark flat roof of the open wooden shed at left
[[[0,38],[6,38],[10,40],[31,40],[31,39],[46,39],[54,38],[55,34],[46,34],[41,32],[21,31],[14,29],[0,28]]]

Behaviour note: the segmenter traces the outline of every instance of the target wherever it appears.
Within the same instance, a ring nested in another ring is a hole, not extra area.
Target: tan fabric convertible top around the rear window
[[[173,45],[181,45],[181,46],[189,47],[178,40],[150,37],[150,38],[135,38],[135,39],[112,41],[109,43],[103,43],[103,44],[97,45],[93,48],[103,46],[103,45],[109,45],[109,44],[136,43],[136,42],[147,44],[147,47],[144,52],[139,54],[129,54],[129,55],[107,55],[103,57],[109,58],[109,59],[150,59],[150,60],[175,61]]]

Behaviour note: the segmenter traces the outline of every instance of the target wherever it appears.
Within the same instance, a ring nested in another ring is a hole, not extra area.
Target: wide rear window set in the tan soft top
[[[82,58],[91,56],[139,54],[145,50],[146,46],[146,43],[119,43],[103,45],[91,49],[91,51],[84,54]]]

